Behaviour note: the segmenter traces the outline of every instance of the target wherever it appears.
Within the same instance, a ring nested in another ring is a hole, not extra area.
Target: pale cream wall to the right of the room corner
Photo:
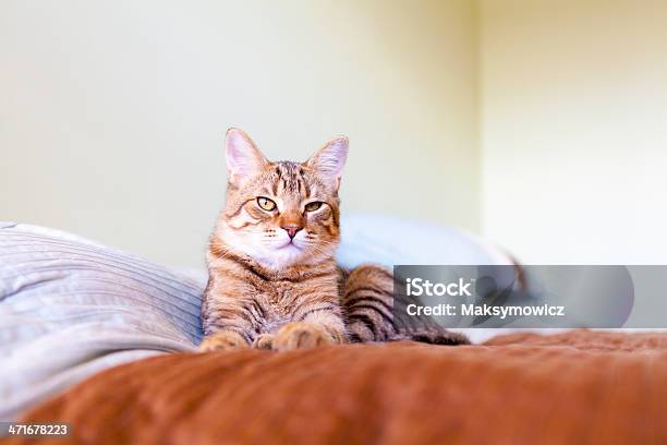
[[[484,233],[529,263],[667,263],[667,2],[480,20]]]

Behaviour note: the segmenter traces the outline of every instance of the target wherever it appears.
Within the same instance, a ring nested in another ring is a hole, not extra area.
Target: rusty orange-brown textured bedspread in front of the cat
[[[667,443],[667,335],[172,354],[24,420],[72,422],[70,440],[90,444]]]

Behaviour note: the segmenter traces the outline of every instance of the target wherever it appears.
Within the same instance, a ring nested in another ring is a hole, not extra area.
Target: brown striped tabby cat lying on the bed
[[[305,163],[271,163],[243,131],[230,129],[226,151],[227,202],[207,253],[201,350],[400,338],[466,342],[444,329],[399,334],[391,273],[337,266],[347,137],[330,140]]]

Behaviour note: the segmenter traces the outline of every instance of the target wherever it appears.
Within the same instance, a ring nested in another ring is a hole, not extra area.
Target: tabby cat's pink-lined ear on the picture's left
[[[227,178],[240,184],[247,178],[262,172],[268,160],[243,130],[229,129],[225,136],[227,155]]]

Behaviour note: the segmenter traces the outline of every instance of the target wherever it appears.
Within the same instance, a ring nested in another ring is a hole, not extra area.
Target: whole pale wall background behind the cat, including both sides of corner
[[[201,266],[222,137],[351,140],[343,212],[667,263],[667,1],[0,0],[0,219]]]

